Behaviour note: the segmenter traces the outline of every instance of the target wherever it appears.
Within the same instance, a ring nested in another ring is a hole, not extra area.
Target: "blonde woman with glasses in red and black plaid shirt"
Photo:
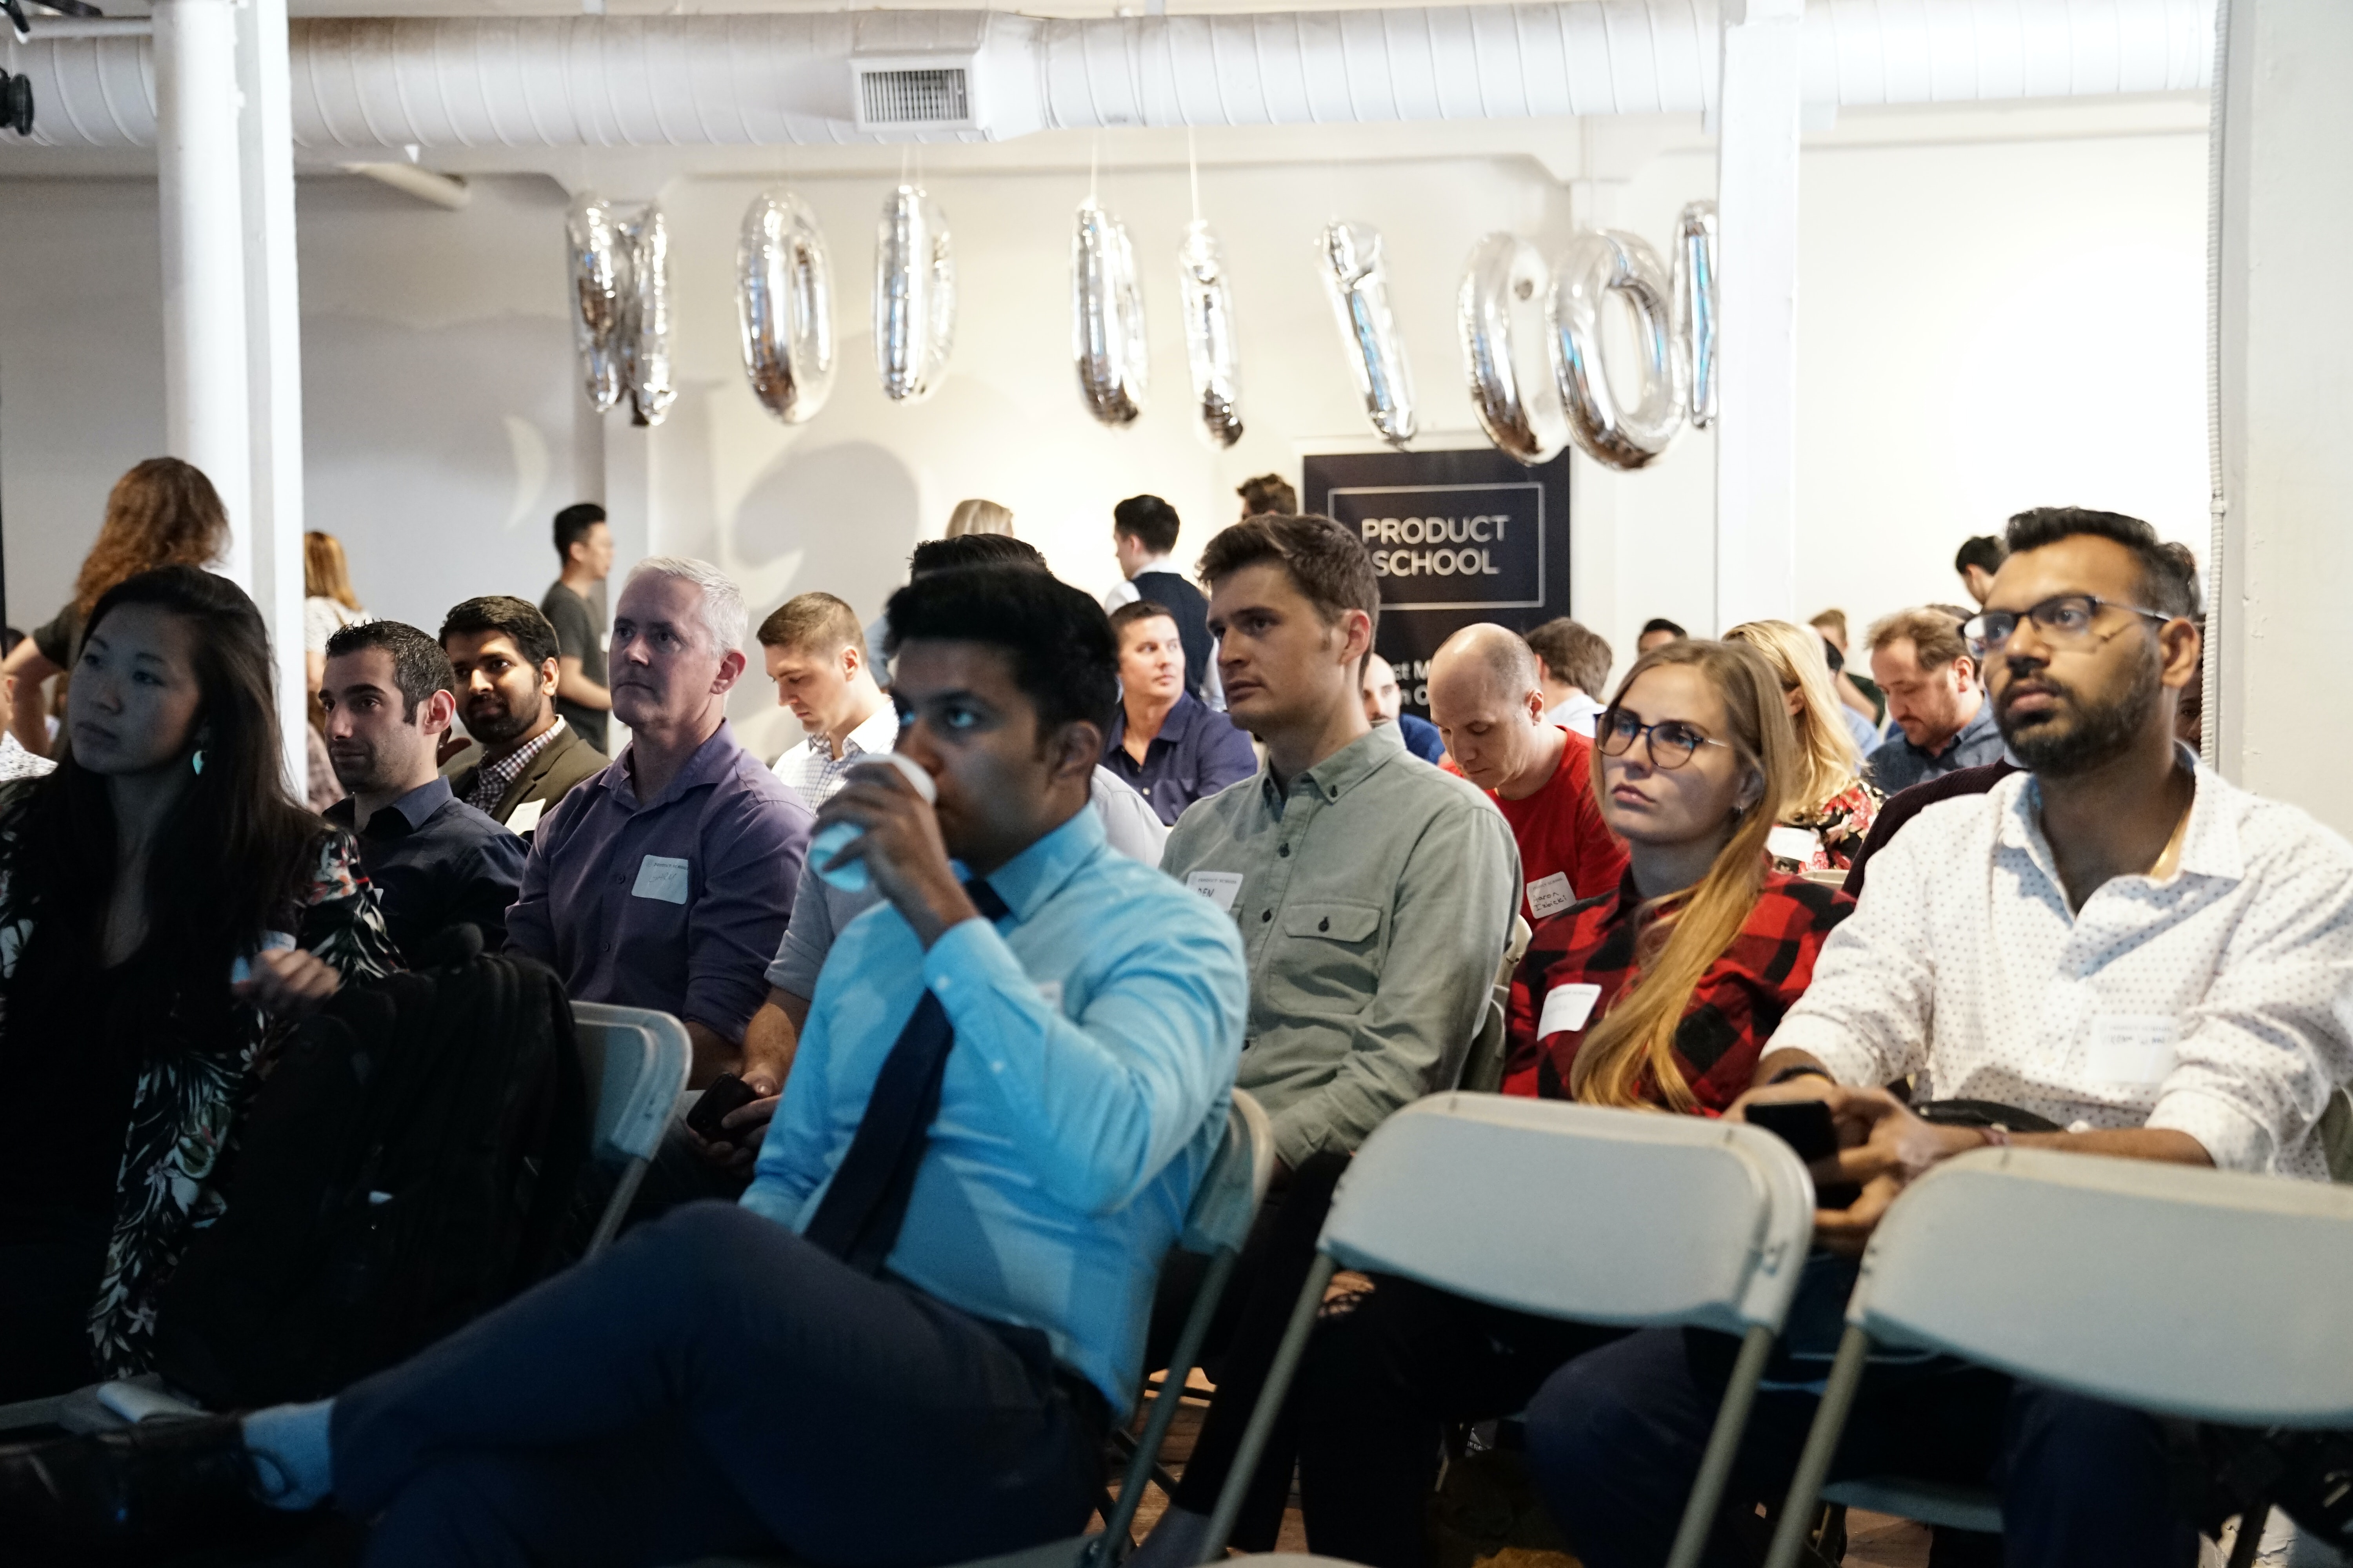
[[[1671,642],[1602,715],[1595,788],[1631,865],[1537,929],[1511,990],[1504,1093],[1720,1114],[1805,994],[1845,896],[1767,870],[1772,802],[1805,757],[1746,646]],[[1647,950],[1647,954],[1645,954]],[[1341,1274],[1294,1418],[1308,1540],[1369,1568],[1428,1561],[1442,1427],[1511,1415],[1621,1331],[1506,1312],[1409,1279]],[[1289,1446],[1278,1443],[1287,1455]],[[1278,1462],[1285,1476],[1289,1460]]]

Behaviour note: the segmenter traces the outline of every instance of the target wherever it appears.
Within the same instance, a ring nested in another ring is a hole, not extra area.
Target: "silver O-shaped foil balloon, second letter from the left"
[[[814,418],[833,390],[833,259],[791,190],[767,190],[744,214],[736,324],[760,407],[788,425]]]

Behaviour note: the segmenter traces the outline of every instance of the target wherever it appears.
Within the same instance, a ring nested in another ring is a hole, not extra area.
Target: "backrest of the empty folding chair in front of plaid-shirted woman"
[[[1322,1251],[1518,1312],[1779,1328],[1814,1190],[1734,1121],[1506,1095],[1431,1095],[1374,1128]]]

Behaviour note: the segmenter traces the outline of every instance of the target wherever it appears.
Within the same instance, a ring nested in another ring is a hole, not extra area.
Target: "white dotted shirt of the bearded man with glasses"
[[[2200,766],[2179,870],[2071,912],[2035,778],[2014,773],[1873,856],[1772,1048],[1840,1084],[1918,1072],[1922,1100],[2160,1126],[2226,1171],[2327,1180],[2315,1128],[2353,1077],[2353,846]]]

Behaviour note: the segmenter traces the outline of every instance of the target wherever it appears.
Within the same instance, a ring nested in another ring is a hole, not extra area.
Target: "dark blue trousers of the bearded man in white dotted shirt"
[[[1725,1335],[1645,1328],[1546,1380],[1529,1406],[1529,1458],[1588,1568],[1666,1561],[1732,1356]],[[1817,1403],[1805,1392],[1758,1396],[1729,1509],[1781,1502]],[[1889,1472],[1991,1483],[2002,1497],[2009,1568],[2198,1561],[2198,1535],[2172,1509],[2158,1422],[2097,1399],[1953,1361],[1873,1366],[1831,1476]],[[1718,1530],[1708,1563],[1741,1561]]]

